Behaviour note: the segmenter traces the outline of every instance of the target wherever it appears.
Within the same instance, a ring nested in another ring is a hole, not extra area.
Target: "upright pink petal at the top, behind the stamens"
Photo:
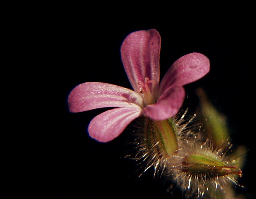
[[[135,91],[138,88],[138,81],[144,82],[146,77],[154,80],[156,86],[159,85],[160,45],[161,37],[154,29],[132,32],[124,39],[121,58]]]

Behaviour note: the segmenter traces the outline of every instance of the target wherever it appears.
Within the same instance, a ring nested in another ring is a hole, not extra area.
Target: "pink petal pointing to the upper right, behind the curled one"
[[[183,86],[204,77],[210,70],[209,59],[200,53],[190,53],[177,59],[160,83],[159,95],[170,86]]]

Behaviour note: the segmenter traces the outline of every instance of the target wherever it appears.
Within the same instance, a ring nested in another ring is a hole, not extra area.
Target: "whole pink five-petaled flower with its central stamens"
[[[209,72],[209,59],[191,53],[176,60],[160,82],[161,37],[157,30],[132,32],[121,46],[121,59],[133,90],[109,83],[85,82],[69,94],[73,113],[112,107],[88,126],[92,138],[109,142],[142,115],[165,120],[178,113],[185,98],[183,86]]]

